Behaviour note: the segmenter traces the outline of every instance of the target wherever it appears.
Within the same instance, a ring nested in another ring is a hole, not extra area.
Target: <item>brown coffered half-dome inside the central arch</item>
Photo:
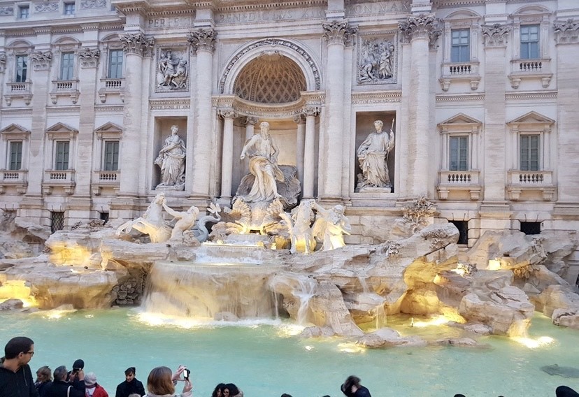
[[[289,103],[306,90],[299,66],[276,52],[264,53],[243,67],[234,84],[236,96],[257,103]]]

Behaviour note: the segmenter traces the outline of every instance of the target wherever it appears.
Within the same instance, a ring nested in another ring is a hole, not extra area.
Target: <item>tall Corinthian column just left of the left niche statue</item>
[[[150,55],[154,38],[146,38],[141,33],[121,34],[120,41],[125,54],[126,92],[124,94],[124,115],[122,117],[122,156],[120,161],[119,196],[138,195],[138,176],[141,173],[141,139],[143,118],[143,57]]]

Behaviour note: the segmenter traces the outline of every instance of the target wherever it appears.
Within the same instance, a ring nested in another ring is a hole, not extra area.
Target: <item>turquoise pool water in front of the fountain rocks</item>
[[[358,349],[340,338],[304,340],[287,335],[291,326],[245,323],[239,326],[184,328],[163,322],[150,326],[137,310],[80,311],[58,319],[9,313],[0,315],[0,345],[15,335],[35,341],[33,370],[48,365],[70,369],[85,360],[85,372],[96,373],[111,397],[135,366],[146,384],[151,368],[185,364],[192,370],[194,396],[209,397],[215,384],[233,382],[245,396],[342,396],[340,384],[358,375],[373,397],[380,396],[555,396],[555,387],[579,389],[579,379],[548,375],[541,366],[579,367],[579,331],[550,324],[537,316],[531,340],[553,341],[529,348],[501,337],[480,339],[486,348],[421,347]],[[389,319],[401,333],[436,339],[456,335],[447,326],[408,327],[408,319]],[[178,385],[178,391],[182,388]]]

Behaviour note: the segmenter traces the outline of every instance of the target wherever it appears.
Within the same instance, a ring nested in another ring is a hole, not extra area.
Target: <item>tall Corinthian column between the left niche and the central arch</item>
[[[211,83],[213,82],[213,50],[217,32],[213,28],[198,29],[189,34],[187,40],[197,55],[196,92],[192,92],[191,103],[195,103],[194,131],[187,131],[187,142],[193,142],[192,197],[209,198],[211,149],[213,145],[213,120],[211,118]],[[231,120],[233,123],[233,120]],[[233,128],[233,124],[231,124]],[[233,131],[233,130],[231,130]],[[233,133],[233,132],[232,132]],[[231,144],[233,145],[233,144]],[[231,146],[233,147],[233,146]],[[231,173],[231,169],[229,170]],[[223,191],[222,191],[223,192]],[[231,180],[229,181],[231,195]]]

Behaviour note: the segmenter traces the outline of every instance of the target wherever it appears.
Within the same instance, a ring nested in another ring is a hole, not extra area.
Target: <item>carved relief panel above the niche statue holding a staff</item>
[[[359,34],[358,41],[358,84],[395,84],[398,59],[396,33]]]

